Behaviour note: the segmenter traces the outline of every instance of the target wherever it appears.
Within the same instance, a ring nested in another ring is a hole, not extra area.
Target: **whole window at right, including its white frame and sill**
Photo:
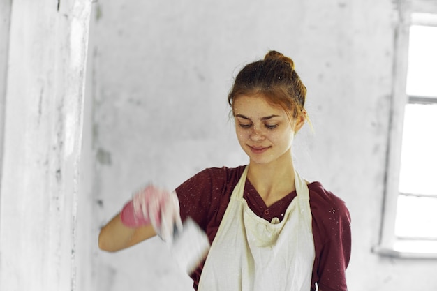
[[[437,258],[437,6],[397,31],[380,242],[397,258]]]

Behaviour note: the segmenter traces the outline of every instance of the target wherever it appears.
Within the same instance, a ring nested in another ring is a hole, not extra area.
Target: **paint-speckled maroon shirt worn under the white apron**
[[[244,167],[205,169],[176,189],[182,221],[191,216],[205,230],[210,242],[216,236],[230,195]],[[311,290],[316,290],[317,283],[323,291],[346,291],[346,267],[351,248],[349,211],[343,200],[325,190],[319,182],[312,182],[308,188],[316,250]],[[246,179],[243,197],[251,210],[261,218],[272,221],[276,217],[282,221],[283,214],[296,195],[296,191],[293,191],[267,207],[249,179]],[[191,274],[195,290],[204,263]]]

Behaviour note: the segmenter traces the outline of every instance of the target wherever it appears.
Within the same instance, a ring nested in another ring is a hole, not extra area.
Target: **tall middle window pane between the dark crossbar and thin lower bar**
[[[399,192],[437,195],[437,104],[407,104]]]

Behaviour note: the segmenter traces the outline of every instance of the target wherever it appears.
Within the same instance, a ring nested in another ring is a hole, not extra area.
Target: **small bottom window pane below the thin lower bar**
[[[394,232],[397,237],[437,239],[437,197],[399,195]]]

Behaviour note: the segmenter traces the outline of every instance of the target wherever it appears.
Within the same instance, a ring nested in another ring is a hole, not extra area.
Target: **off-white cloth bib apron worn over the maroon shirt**
[[[199,291],[309,291],[314,241],[309,190],[295,172],[297,197],[269,223],[243,198],[248,167],[230,197],[200,276]]]

